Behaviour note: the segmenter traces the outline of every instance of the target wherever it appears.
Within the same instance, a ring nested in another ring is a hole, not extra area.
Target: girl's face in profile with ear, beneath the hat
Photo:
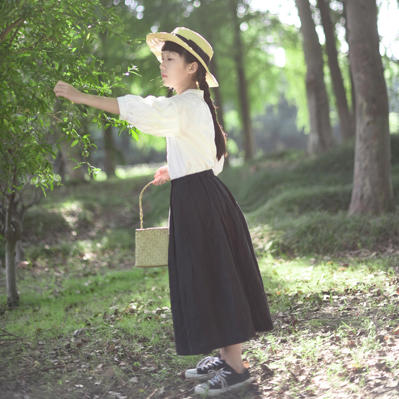
[[[164,86],[173,87],[177,94],[182,94],[188,89],[197,89],[197,62],[186,64],[184,58],[173,51],[162,51],[161,54],[160,68]]]

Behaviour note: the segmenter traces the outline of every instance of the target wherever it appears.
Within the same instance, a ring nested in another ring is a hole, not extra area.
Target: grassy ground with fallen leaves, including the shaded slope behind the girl
[[[397,394],[398,214],[347,217],[351,168],[347,145],[223,171],[275,326],[244,344],[254,383],[229,398]],[[198,398],[182,372],[201,357],[176,355],[167,269],[133,267],[138,196],[154,171],[136,172],[58,188],[27,212],[20,308],[0,305],[2,398]],[[144,227],[167,225],[169,191],[144,194]],[[0,280],[0,303],[4,291]]]

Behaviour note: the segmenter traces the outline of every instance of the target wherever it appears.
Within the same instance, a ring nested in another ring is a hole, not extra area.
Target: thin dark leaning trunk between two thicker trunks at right
[[[340,116],[341,135],[342,140],[345,141],[355,135],[355,129],[352,125],[344,80],[342,79],[341,69],[338,64],[337,47],[335,45],[334,27],[330,18],[329,4],[330,0],[318,0],[324,34],[326,36],[326,49],[330,73],[333,81],[335,98],[337,100],[338,114]]]

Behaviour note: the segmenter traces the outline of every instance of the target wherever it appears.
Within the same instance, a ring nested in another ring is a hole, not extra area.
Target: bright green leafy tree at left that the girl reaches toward
[[[99,16],[101,15],[101,18]],[[59,143],[51,139],[55,127],[63,138],[78,145],[82,162],[91,143],[80,134],[82,106],[54,103],[55,83],[66,80],[81,90],[100,95],[120,86],[120,78],[101,70],[92,54],[99,32],[108,31],[128,41],[120,21],[98,0],[8,0],[0,8],[0,227],[5,238],[6,286],[9,306],[19,297],[15,279],[15,245],[21,235],[16,207],[21,188],[29,181],[43,192],[53,189],[51,159]],[[101,85],[99,81],[101,79]],[[94,120],[102,114],[92,115]],[[118,120],[108,120],[121,129]],[[93,168],[88,165],[88,170]]]

